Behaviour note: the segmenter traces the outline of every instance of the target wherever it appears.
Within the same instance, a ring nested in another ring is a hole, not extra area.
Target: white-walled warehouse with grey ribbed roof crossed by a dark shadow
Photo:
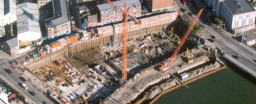
[[[19,43],[33,42],[41,38],[37,4],[17,5],[17,31]]]

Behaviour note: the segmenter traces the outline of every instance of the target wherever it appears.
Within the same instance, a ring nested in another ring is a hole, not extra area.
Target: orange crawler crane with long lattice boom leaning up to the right
[[[163,62],[161,64],[161,67],[159,68],[159,70],[161,70],[162,72],[165,72],[166,70],[168,70],[170,68],[170,64],[173,62],[173,60],[176,58],[176,55],[178,54],[178,51],[180,51],[181,46],[184,44],[185,40],[188,38],[188,35],[190,34],[190,32],[192,31],[193,27],[195,26],[197,20],[199,19],[199,16],[201,15],[201,12],[203,11],[203,9],[201,9],[196,17],[194,18],[193,22],[190,24],[190,26],[188,27],[188,30],[185,32],[184,36],[182,37],[180,44],[177,46],[177,48],[175,49],[175,51],[172,54],[172,57],[170,57],[166,62]]]

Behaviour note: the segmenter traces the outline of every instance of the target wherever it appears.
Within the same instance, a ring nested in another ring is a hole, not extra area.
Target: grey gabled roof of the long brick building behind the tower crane
[[[126,3],[129,10],[133,9],[133,5],[135,5],[136,8],[141,8],[139,0],[120,0],[120,1],[114,1],[113,3],[120,8],[124,8],[124,3]],[[115,9],[114,7],[112,7],[109,3],[100,4],[100,5],[97,5],[97,7],[101,12],[101,16],[107,15],[106,11],[108,11],[108,14],[113,14],[114,10],[116,10],[116,12],[120,12],[118,11],[118,9]]]

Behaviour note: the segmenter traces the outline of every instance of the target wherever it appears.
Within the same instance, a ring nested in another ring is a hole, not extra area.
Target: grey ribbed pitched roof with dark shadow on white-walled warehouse
[[[22,3],[17,5],[17,29],[18,34],[27,31],[41,33],[37,4]]]

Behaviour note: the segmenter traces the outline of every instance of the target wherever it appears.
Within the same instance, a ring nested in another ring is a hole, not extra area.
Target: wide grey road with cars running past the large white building
[[[192,12],[193,14],[197,14],[199,11],[199,8],[204,8],[203,14],[200,16],[199,20],[197,21],[197,24],[203,25],[206,27],[206,30],[202,32],[202,38],[210,39],[212,35],[217,36],[217,39],[215,39],[214,43],[211,43],[206,40],[205,45],[207,46],[217,46],[222,48],[224,51],[226,51],[226,54],[229,54],[231,56],[237,55],[240,58],[232,60],[236,60],[238,62],[241,62],[244,66],[247,66],[248,68],[252,69],[256,72],[256,62],[253,60],[256,59],[256,54],[252,51],[248,51],[243,46],[239,45],[239,41],[241,39],[237,39],[234,35],[226,33],[225,35],[222,34],[223,30],[219,30],[215,28],[212,25],[212,21],[210,19],[210,15],[213,14],[211,9],[208,9],[208,5],[204,0],[185,0],[187,5],[182,4],[179,1],[176,1],[178,7],[185,8],[187,13]],[[184,13],[182,13],[184,14]],[[208,28],[208,30],[207,30]]]

